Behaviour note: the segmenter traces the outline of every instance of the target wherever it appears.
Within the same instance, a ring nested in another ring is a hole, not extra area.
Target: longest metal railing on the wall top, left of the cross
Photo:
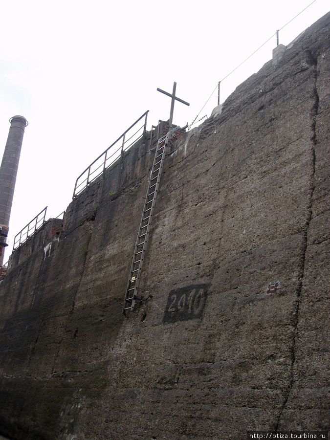
[[[130,128],[126,130],[113,144],[107,148],[102,154],[100,154],[94,162],[92,162],[88,168],[77,178],[74,186],[73,196],[78,196],[88,185],[100,176],[107,168],[109,168],[120,156],[124,154],[133,144],[135,144],[141,137],[145,136],[147,127],[147,116],[149,110],[147,110],[139,119],[137,119]],[[136,124],[144,118],[144,122],[141,127],[136,130]],[[134,132],[134,130],[136,130]],[[130,142],[129,145],[126,145]],[[118,147],[119,148],[116,148]],[[111,150],[111,152],[110,152]]]

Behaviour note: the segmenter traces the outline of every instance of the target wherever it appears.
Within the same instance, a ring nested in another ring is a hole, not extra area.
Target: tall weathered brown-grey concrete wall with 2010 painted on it
[[[0,287],[0,433],[244,439],[329,430],[330,14],[166,158],[121,314],[151,154],[76,198]],[[26,254],[27,255],[27,254]],[[152,297],[150,297],[152,295]]]

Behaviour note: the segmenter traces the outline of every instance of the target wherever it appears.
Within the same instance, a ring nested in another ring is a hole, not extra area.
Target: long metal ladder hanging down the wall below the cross
[[[150,232],[151,221],[153,218],[154,207],[160,183],[160,177],[163,170],[163,163],[166,154],[166,147],[169,144],[171,136],[180,127],[176,127],[165,136],[161,137],[157,142],[156,152],[154,154],[154,163],[150,173],[149,185],[146,199],[144,202],[142,217],[140,221],[139,232],[137,234],[134,255],[132,259],[131,271],[126,287],[123,314],[126,315],[126,310],[133,310],[136,302],[137,288],[140,281],[142,264],[144,254],[147,247],[148,236]]]

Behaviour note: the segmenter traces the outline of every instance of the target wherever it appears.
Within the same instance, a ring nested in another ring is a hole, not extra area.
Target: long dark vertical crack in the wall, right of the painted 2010
[[[311,55],[311,54],[310,54]],[[296,307],[295,307],[295,316],[296,316],[296,322],[294,326],[293,331],[293,341],[292,341],[292,348],[291,348],[291,366],[290,366],[290,379],[289,379],[289,385],[287,387],[287,390],[284,394],[284,401],[282,404],[282,407],[279,412],[279,416],[277,418],[277,422],[275,425],[275,431],[278,430],[282,418],[283,411],[285,410],[286,404],[288,402],[288,399],[290,397],[293,383],[294,383],[294,365],[296,361],[296,338],[297,338],[297,329],[298,329],[298,323],[299,323],[299,305],[300,305],[300,295],[302,291],[303,281],[304,281],[304,275],[305,275],[305,263],[306,263],[306,252],[307,252],[307,242],[308,242],[308,228],[309,223],[312,219],[312,199],[315,189],[315,147],[317,145],[317,136],[316,136],[316,120],[318,115],[318,105],[319,105],[319,96],[317,92],[317,60],[313,59],[314,61],[314,77],[315,77],[315,87],[314,87],[314,105],[311,108],[311,118],[312,118],[312,124],[311,124],[311,141],[312,141],[312,149],[311,149],[311,159],[312,159],[312,169],[310,172],[310,192],[309,192],[309,206],[308,206],[308,218],[306,220],[306,226],[304,231],[304,248],[302,252],[302,271],[301,271],[301,277],[299,279],[299,286],[297,288],[297,301],[296,301]]]

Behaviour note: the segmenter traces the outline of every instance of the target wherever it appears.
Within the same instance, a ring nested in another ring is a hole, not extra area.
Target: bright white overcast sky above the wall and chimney
[[[0,158],[9,118],[25,129],[9,236],[45,206],[70,203],[76,178],[139,116],[190,124],[218,82],[312,0],[0,0]],[[289,44],[330,10],[316,0],[280,31]],[[272,58],[276,36],[221,83],[220,102]],[[210,116],[217,91],[200,113]]]

